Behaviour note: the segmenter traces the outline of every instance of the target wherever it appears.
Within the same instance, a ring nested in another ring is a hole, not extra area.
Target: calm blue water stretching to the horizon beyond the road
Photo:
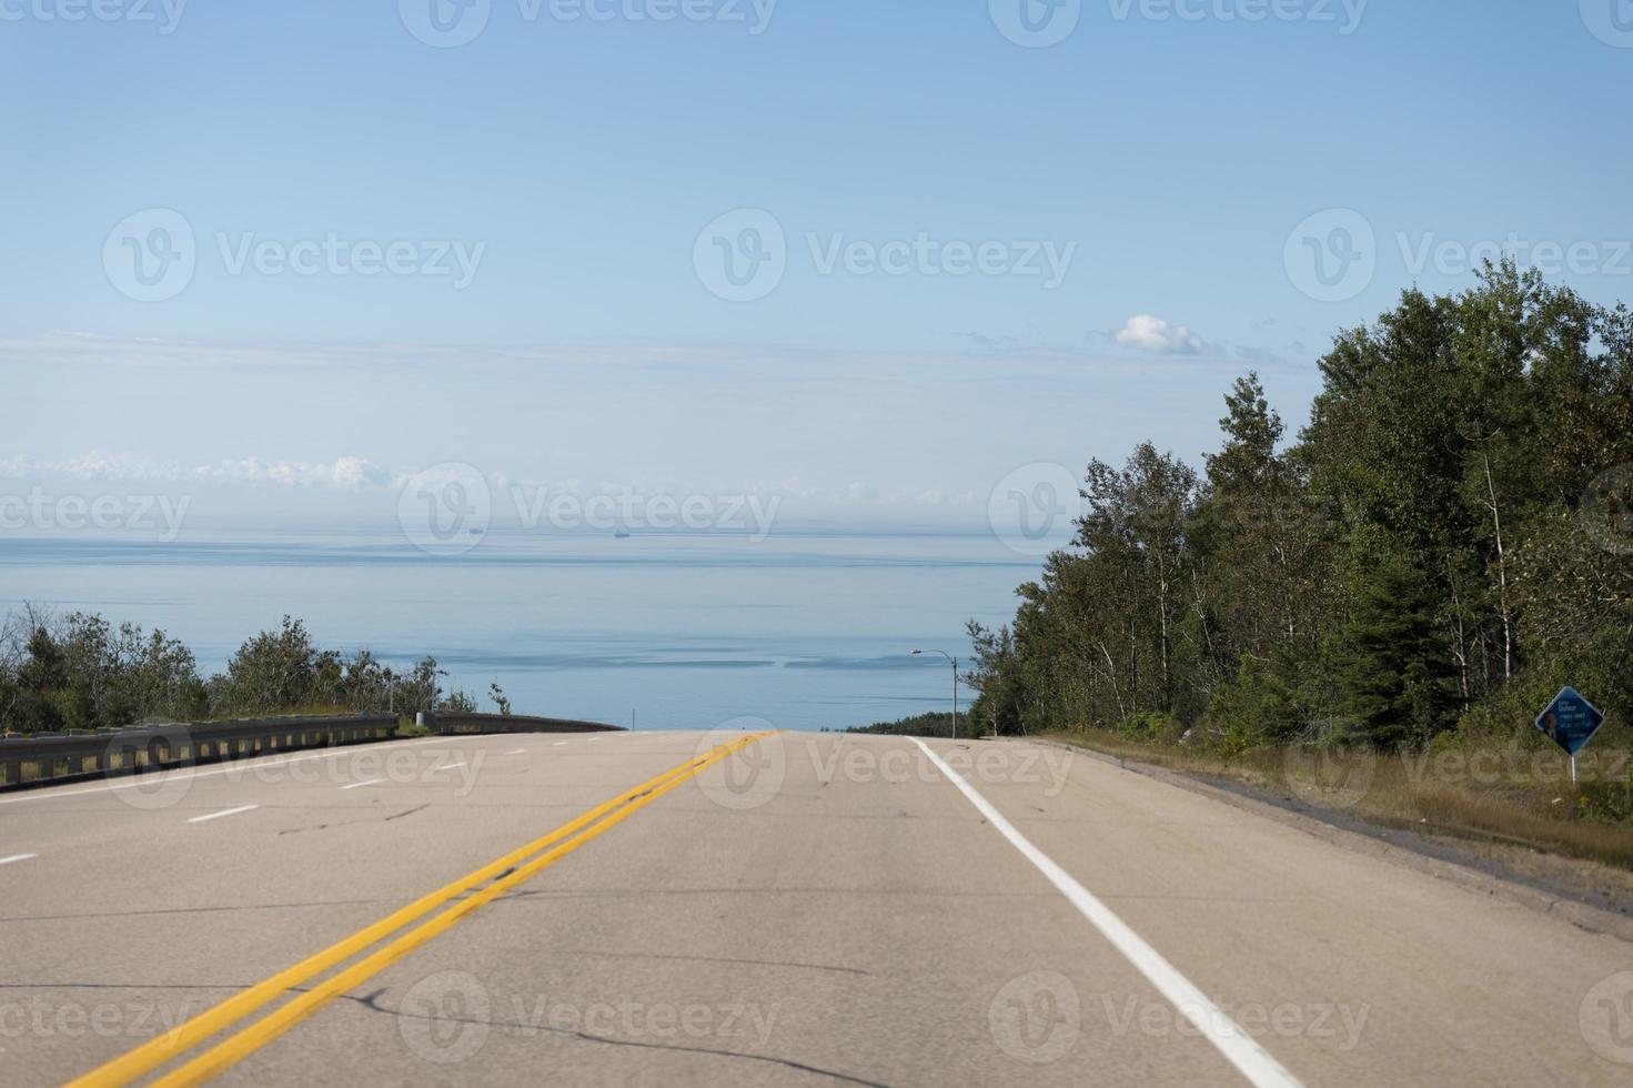
[[[447,684],[498,680],[521,712],[639,729],[740,716],[862,725],[949,698],[934,647],[1006,622],[1035,560],[991,536],[539,536],[457,557],[371,529],[237,526],[175,544],[0,537],[0,611],[21,601],[163,627],[220,668],[284,613],[325,647],[429,653]]]

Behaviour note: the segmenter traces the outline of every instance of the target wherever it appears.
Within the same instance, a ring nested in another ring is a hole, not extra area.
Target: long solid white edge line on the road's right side
[[[1179,1013],[1189,1019],[1202,1037],[1212,1042],[1225,1059],[1235,1065],[1243,1077],[1261,1088],[1302,1088],[1298,1080],[1282,1068],[1270,1054],[1259,1046],[1259,1042],[1236,1026],[1236,1021],[1221,1013],[1213,1001],[1210,1001],[1202,990],[1199,990],[1189,979],[1186,979],[1179,970],[1163,959],[1161,952],[1145,943],[1145,939],[1128,928],[1128,925],[1112,913],[1112,910],[1094,898],[1089,889],[1078,884],[1076,879],[1058,864],[1055,864],[1048,854],[1034,846],[1027,838],[1014,828],[1003,814],[994,809],[986,797],[975,792],[963,778],[959,776],[947,763],[931,751],[929,745],[923,740],[913,738],[924,755],[931,758],[941,773],[947,776],[954,786],[959,787],[970,804],[975,805],[977,812],[986,817],[999,835],[1009,840],[1009,845],[1021,851],[1021,854],[1037,866],[1050,884],[1053,884],[1066,900],[1078,908],[1084,918],[1089,920],[1096,930],[1101,931],[1112,948],[1124,954],[1135,969],[1146,977],[1146,980],[1156,987],[1156,990],[1169,1000],[1169,1003],[1179,1010]]]

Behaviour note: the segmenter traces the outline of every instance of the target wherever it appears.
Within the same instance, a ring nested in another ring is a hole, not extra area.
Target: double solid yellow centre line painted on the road
[[[158,1036],[157,1039],[152,1039],[114,1059],[113,1062],[69,1081],[69,1088],[111,1088],[113,1085],[129,1085],[136,1078],[150,1073],[171,1059],[180,1057],[181,1052],[189,1047],[225,1031],[266,1005],[271,1005],[289,990],[310,982],[315,975],[338,967],[341,962],[351,959],[369,946],[377,944],[403,926],[418,921],[449,900],[487,884],[487,887],[482,887],[480,892],[459,900],[429,921],[403,933],[390,944],[376,949],[367,957],[325,979],[248,1028],[243,1028],[222,1042],[217,1042],[185,1065],[165,1073],[155,1080],[154,1085],[163,1085],[168,1088],[173,1085],[198,1085],[209,1080],[211,1077],[243,1060],[278,1036],[284,1034],[330,1000],[385,970],[439,933],[446,933],[478,907],[493,902],[518,884],[537,876],[545,866],[560,861],[702,769],[725,760],[740,748],[746,748],[761,737],[769,735],[771,734],[753,734],[750,737],[743,737],[741,740],[720,745],[719,748],[712,748],[710,751],[705,751],[704,755],[671,771],[665,771],[663,774],[619,794],[612,800],[591,809],[570,823],[563,823],[544,838],[534,840],[519,849],[513,849],[498,861],[492,861],[475,872],[470,872],[469,876],[464,876],[452,884],[431,892],[429,895],[416,898],[402,910],[380,918],[374,925],[358,930],[338,944],[331,944],[322,952],[309,956],[294,967],[287,967],[271,979],[266,979],[265,982],[227,998],[220,1005],[199,1013],[173,1031],[168,1031],[163,1036]]]

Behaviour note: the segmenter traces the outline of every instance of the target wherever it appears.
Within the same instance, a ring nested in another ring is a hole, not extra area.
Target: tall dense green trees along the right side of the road
[[[1319,361],[1288,441],[1256,374],[1200,470],[1091,461],[1073,546],[970,624],[988,730],[1421,748],[1633,699],[1633,317],[1514,263]]]

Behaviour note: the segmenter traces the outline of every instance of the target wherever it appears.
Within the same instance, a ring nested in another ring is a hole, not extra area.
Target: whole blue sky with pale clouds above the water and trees
[[[1197,461],[1249,366],[1302,418],[1337,328],[1481,245],[1633,296],[1626,0],[1065,0],[1048,47],[1003,29],[1042,0],[477,0],[454,47],[431,0],[100,3],[0,0],[10,480],[957,521]],[[776,273],[730,301],[727,253]]]

